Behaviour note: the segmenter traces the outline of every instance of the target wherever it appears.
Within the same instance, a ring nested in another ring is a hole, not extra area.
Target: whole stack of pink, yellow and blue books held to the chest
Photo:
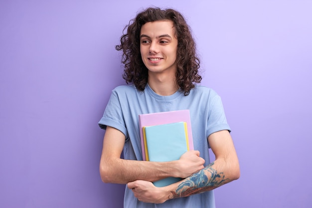
[[[186,151],[194,149],[189,110],[142,114],[139,122],[143,160],[178,160]],[[169,177],[154,185],[163,187],[180,180]]]

